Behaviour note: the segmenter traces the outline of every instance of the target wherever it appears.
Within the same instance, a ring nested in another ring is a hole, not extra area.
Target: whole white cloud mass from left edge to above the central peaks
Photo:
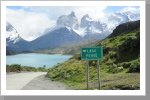
[[[105,8],[106,6],[24,6],[20,10],[7,8],[6,19],[17,29],[22,38],[33,40],[46,28],[54,25],[61,15],[68,15],[74,11],[79,22],[85,14],[98,20],[105,16],[103,13]]]

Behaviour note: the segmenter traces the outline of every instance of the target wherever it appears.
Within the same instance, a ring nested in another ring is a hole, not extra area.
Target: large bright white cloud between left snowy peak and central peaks
[[[27,40],[37,38],[53,24],[46,14],[24,10],[7,9],[6,20],[17,29],[22,38]]]

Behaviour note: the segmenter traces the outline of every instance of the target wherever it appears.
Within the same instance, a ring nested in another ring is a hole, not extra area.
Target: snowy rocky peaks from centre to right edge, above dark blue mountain
[[[113,12],[108,16],[108,21],[106,23],[95,21],[88,14],[84,15],[79,23],[75,12],[72,11],[69,15],[62,15],[58,18],[57,25],[53,31],[66,27],[70,32],[74,31],[82,38],[105,38],[118,25],[139,19],[140,14],[136,12]]]

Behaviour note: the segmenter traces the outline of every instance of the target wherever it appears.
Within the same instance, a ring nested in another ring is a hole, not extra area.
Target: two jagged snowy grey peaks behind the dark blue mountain
[[[56,27],[53,30],[57,30],[61,27],[66,27],[68,30],[76,32],[83,39],[92,37],[103,39],[110,34],[106,23],[94,21],[88,14],[84,15],[79,23],[75,12],[73,11],[69,15],[60,16],[57,20]]]

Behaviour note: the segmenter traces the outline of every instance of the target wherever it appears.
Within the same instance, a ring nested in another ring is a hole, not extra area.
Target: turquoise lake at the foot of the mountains
[[[51,68],[58,63],[62,63],[71,58],[72,55],[61,55],[61,54],[18,54],[6,56],[6,64],[20,64],[21,66],[32,66],[32,67],[43,67]]]

